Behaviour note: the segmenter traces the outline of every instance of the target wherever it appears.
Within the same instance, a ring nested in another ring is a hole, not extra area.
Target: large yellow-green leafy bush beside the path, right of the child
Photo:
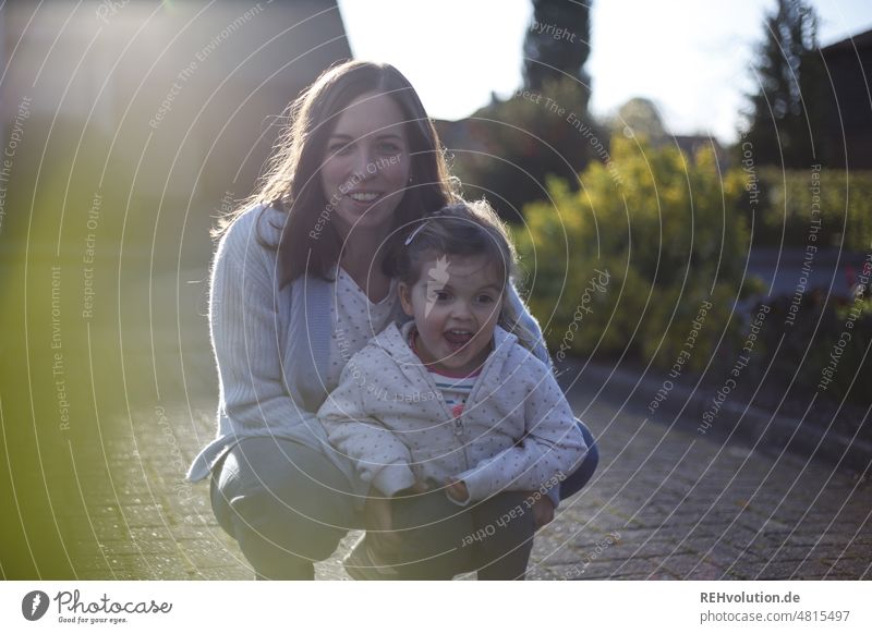
[[[722,178],[712,153],[690,160],[622,137],[610,159],[589,166],[578,192],[550,179],[550,199],[524,207],[514,237],[531,308],[558,362],[628,353],[699,370],[744,328],[734,316],[753,286],[741,169]]]

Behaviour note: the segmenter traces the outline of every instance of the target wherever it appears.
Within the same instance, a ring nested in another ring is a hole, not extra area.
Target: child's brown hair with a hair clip
[[[436,255],[483,256],[507,286],[518,273],[506,227],[484,200],[457,203],[412,222],[386,260],[386,272],[407,284],[421,279],[422,265]]]

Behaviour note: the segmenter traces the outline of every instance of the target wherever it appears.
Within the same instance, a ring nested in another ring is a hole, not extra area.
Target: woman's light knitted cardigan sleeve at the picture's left
[[[259,208],[240,217],[216,249],[209,332],[220,409],[239,431],[292,425],[303,412],[284,386],[275,254],[258,243]]]

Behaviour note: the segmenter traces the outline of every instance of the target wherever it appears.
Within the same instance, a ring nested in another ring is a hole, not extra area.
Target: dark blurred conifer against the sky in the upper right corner
[[[777,0],[764,26],[742,138],[759,164],[808,167],[821,160],[825,136],[818,19],[803,0]]]

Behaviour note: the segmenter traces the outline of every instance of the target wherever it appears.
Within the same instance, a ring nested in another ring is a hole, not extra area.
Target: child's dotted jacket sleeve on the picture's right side
[[[556,484],[588,453],[572,410],[548,368],[530,356],[524,366],[532,376],[524,399],[523,441],[456,476],[467,484],[469,501],[501,490],[536,490],[543,484]]]

